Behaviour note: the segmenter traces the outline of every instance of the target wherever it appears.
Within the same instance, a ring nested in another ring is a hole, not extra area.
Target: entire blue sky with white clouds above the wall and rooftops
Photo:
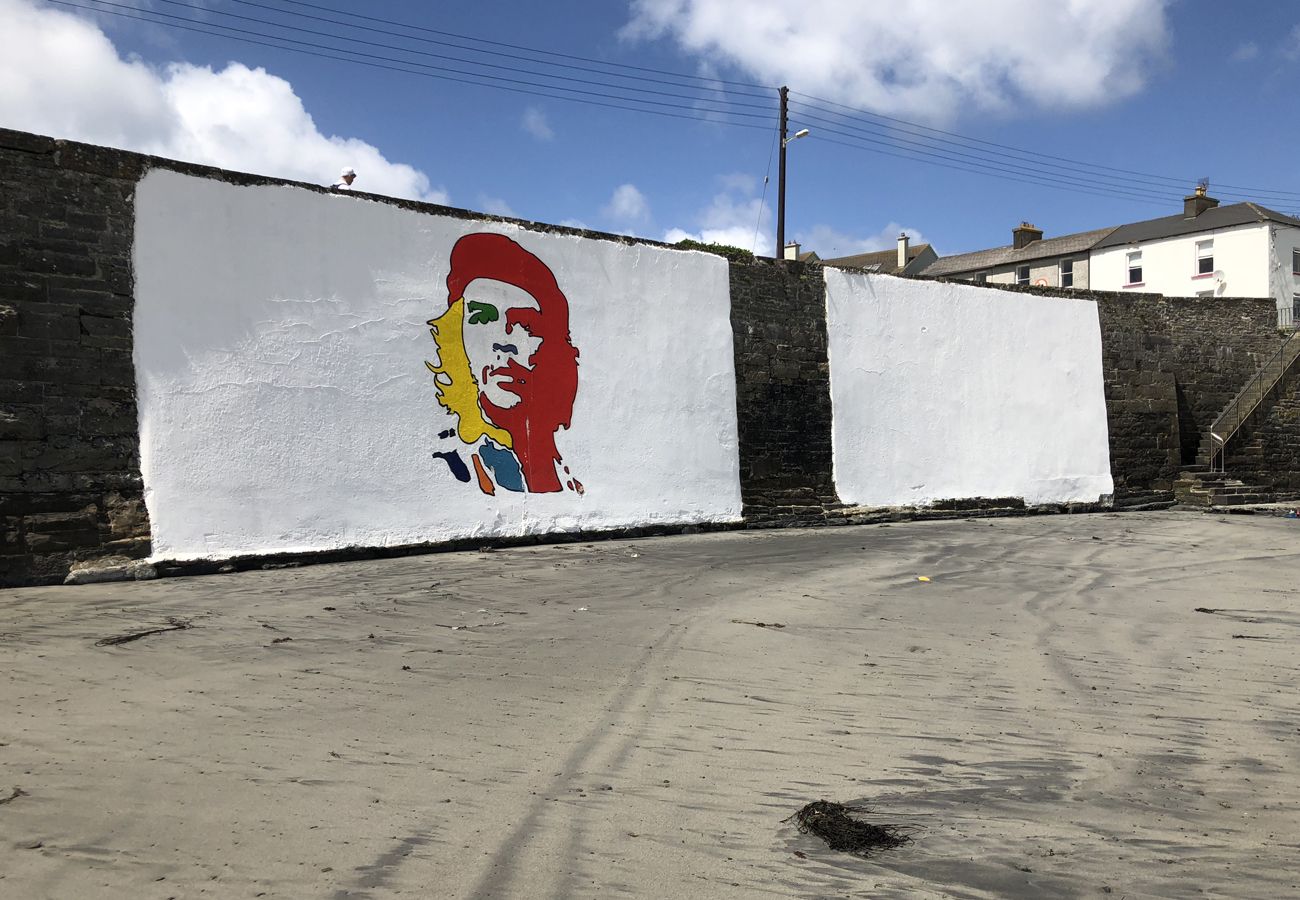
[[[350,164],[359,189],[771,252],[775,87],[788,83],[800,92],[792,130],[807,126],[811,134],[789,147],[786,235],[822,256],[892,245],[900,228],[954,254],[1009,242],[1020,220],[1050,237],[1170,215],[1201,177],[1223,202],[1300,211],[1300,4],[69,3],[77,5],[0,0],[8,25],[0,34],[0,125],[322,183]],[[516,87],[546,96],[317,59],[110,10],[261,33],[270,29],[222,13],[272,18],[338,35],[281,31],[300,40],[441,65],[471,79],[476,72],[519,78],[525,85]],[[585,66],[554,69],[484,40],[607,65],[549,57]],[[448,55],[504,68],[476,69]],[[577,78],[566,82],[577,90],[659,90],[637,96],[682,105],[666,109],[688,118],[566,101],[554,96],[556,82],[519,73],[524,66]],[[719,81],[758,87],[719,94]],[[923,127],[844,118],[827,101]],[[750,117],[720,117],[712,112],[719,104]],[[871,146],[894,155],[835,143],[859,139],[883,142]],[[920,150],[982,173],[927,164]],[[989,168],[1009,169],[1008,177],[991,177]],[[1034,174],[1091,192],[1032,183]]]

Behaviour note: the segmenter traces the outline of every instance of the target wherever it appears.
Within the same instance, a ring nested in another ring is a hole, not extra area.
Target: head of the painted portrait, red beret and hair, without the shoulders
[[[573,414],[578,354],[568,299],[546,264],[503,234],[464,235],[451,250],[447,312],[429,324],[439,350],[439,365],[430,365],[439,402],[460,416],[462,440],[499,441],[493,432],[503,429],[506,446],[523,457],[545,436],[554,455],[554,433]],[[459,347],[445,346],[452,342]],[[456,384],[465,376],[474,410],[465,408],[468,391]]]

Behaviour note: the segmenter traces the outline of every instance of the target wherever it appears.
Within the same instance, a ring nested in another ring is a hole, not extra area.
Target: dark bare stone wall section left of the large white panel
[[[131,363],[140,157],[0,130],[0,584],[148,554]]]

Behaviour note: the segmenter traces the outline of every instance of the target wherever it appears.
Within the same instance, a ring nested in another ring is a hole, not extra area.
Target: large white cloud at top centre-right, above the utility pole
[[[670,38],[770,85],[936,121],[1136,94],[1169,42],[1170,1],[633,0],[623,35]]]

